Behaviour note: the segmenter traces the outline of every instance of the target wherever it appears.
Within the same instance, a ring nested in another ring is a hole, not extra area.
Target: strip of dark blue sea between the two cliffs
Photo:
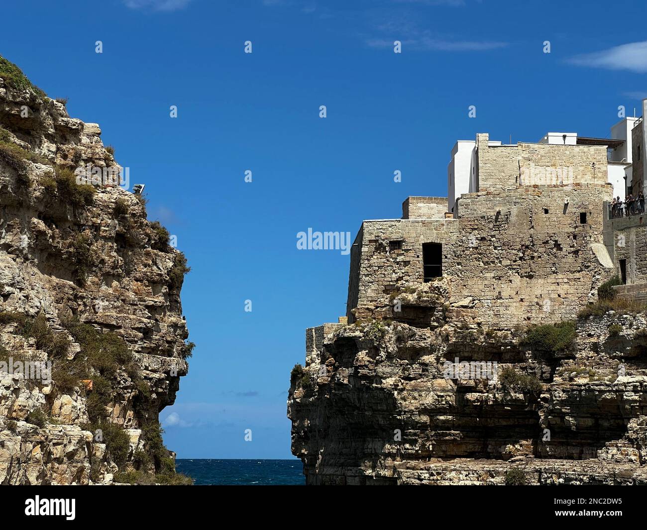
[[[304,485],[300,460],[178,459],[175,469],[195,485]]]

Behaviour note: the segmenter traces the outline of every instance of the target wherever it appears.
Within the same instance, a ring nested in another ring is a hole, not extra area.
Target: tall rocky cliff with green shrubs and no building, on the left
[[[78,183],[120,170],[100,127],[2,58],[0,127],[0,484],[171,476],[158,415],[188,370],[186,259],[142,197]]]

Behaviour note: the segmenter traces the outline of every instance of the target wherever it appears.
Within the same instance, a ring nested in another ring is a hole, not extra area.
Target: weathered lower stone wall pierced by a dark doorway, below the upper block
[[[443,245],[448,304],[488,326],[570,320],[613,272],[596,255],[610,197],[588,184],[479,192],[463,195],[458,219],[365,221],[349,321],[355,298],[355,316],[390,316],[402,286],[423,282],[422,243]]]

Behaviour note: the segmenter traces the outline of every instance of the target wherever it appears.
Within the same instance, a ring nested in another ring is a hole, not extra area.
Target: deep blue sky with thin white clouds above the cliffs
[[[634,21],[645,11],[629,1],[23,1],[3,5],[0,54],[68,97],[71,116],[100,124],[131,182],[146,183],[149,218],[188,257],[182,303],[197,347],[160,414],[168,447],[179,458],[291,458],[290,370],[304,362],[305,328],[344,315],[349,265],[339,251],[297,250],[296,234],[355,237],[362,219],[400,217],[408,195],[446,195],[450,150],[477,132],[504,143],[606,137],[619,105],[641,115],[647,36]]]

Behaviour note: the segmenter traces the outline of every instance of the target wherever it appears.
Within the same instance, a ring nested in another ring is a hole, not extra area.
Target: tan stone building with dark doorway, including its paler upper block
[[[450,306],[489,327],[573,318],[613,273],[604,245],[606,146],[476,139],[477,191],[408,197],[402,219],[364,221],[351,248],[347,318],[391,317],[412,283],[439,283]],[[400,304],[401,305],[401,304]],[[406,312],[408,308],[399,307]],[[399,315],[402,316],[402,315]],[[417,309],[414,320],[425,318]]]

